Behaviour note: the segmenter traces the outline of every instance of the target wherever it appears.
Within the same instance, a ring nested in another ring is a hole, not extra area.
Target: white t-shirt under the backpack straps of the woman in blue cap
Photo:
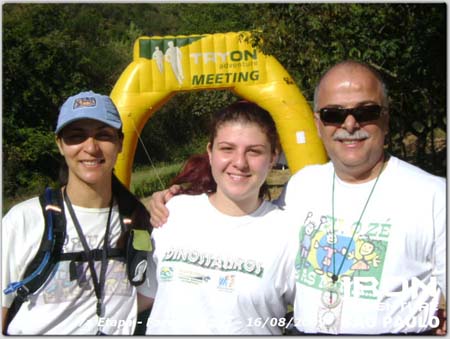
[[[73,206],[89,247],[102,248],[109,208]],[[83,246],[65,206],[67,234],[64,252],[80,252]],[[2,285],[21,281],[35,257],[44,232],[39,199],[14,206],[2,222]],[[118,206],[111,215],[110,244],[121,233]],[[100,261],[95,262],[100,276]],[[9,334],[67,335],[133,334],[137,316],[136,289],[130,285],[123,261],[109,260],[106,272],[102,318],[96,314],[97,298],[88,263],[77,263],[78,279],[70,280],[69,261],[59,262],[47,282],[22,304],[8,327]],[[3,307],[10,307],[14,293],[3,294]]]

